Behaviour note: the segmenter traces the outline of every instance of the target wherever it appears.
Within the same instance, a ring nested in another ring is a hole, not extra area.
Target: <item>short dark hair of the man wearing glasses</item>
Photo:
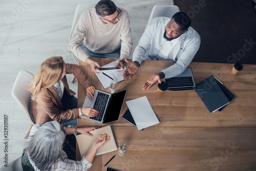
[[[101,0],[96,4],[95,9],[97,15],[104,17],[114,14],[116,12],[116,5],[111,0]]]

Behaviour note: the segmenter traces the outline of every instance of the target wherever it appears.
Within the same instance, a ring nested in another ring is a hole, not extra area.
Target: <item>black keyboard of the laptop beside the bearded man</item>
[[[170,87],[184,87],[184,86],[194,86],[193,79],[189,77],[173,77],[165,79],[165,82]]]

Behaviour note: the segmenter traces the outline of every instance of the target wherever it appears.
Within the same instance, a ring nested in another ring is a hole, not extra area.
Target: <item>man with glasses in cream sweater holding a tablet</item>
[[[124,68],[133,42],[129,16],[111,0],[99,1],[95,8],[84,11],[72,34],[70,47],[93,72],[101,66],[91,57],[119,58],[116,67]]]

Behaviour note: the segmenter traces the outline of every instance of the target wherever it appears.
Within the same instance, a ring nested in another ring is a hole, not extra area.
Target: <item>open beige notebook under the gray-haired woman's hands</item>
[[[116,142],[115,142],[110,125],[101,127],[100,129],[97,129],[97,130],[93,130],[90,133],[93,135],[93,137],[90,137],[88,135],[83,135],[83,134],[76,136],[81,157],[85,156],[88,153],[93,142],[98,138],[100,134],[104,134],[104,133],[110,136],[110,140],[107,143],[105,143],[103,146],[97,149],[96,156],[117,150]]]

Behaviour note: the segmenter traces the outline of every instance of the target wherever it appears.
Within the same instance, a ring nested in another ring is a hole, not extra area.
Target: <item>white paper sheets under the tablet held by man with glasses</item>
[[[108,63],[107,65],[102,66],[101,68],[106,68],[106,67],[115,67],[116,63],[118,60],[113,61],[111,63]],[[97,76],[97,78],[99,79],[101,85],[103,86],[104,89],[109,88],[110,87],[110,81],[112,79],[116,79],[118,82],[124,80],[123,79],[123,72],[125,71],[126,67],[124,66],[124,70],[123,71],[108,71],[108,72],[100,72],[100,73],[95,73],[95,75]]]

